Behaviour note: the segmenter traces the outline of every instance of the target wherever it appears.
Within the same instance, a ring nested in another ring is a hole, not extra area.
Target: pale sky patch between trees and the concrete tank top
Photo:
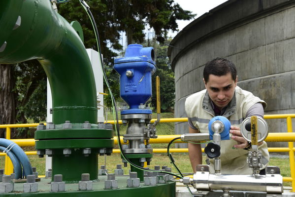
[[[174,2],[178,3],[184,10],[189,10],[192,11],[193,14],[197,14],[195,19],[208,12],[210,9],[224,3],[225,1],[227,0],[174,0]],[[190,21],[177,20],[179,31],[181,31],[185,26],[190,24],[195,19]],[[169,32],[168,36],[173,38],[176,34],[177,32]]]

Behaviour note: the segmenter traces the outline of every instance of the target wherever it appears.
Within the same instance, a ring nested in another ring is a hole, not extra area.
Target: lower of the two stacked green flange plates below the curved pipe
[[[57,139],[38,140],[35,142],[37,150],[42,149],[79,149],[79,148],[113,148],[113,139]]]

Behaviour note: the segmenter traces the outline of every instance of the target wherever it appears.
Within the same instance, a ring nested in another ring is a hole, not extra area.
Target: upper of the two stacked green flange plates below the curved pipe
[[[35,139],[113,138],[111,129],[49,129],[35,131]]]

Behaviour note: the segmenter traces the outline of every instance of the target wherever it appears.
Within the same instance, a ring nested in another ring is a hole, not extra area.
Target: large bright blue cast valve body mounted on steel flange
[[[120,96],[129,105],[124,114],[152,114],[139,108],[152,96],[152,74],[156,71],[153,47],[141,44],[128,45],[125,57],[114,61],[114,69],[120,74]]]

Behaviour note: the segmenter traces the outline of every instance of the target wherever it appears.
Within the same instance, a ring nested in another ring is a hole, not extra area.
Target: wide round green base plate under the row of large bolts
[[[157,186],[144,186],[139,188],[127,188],[129,176],[116,176],[118,188],[116,190],[104,190],[106,176],[99,176],[98,181],[93,183],[93,191],[78,191],[78,184],[66,184],[66,192],[51,193],[50,179],[41,178],[38,182],[37,193],[22,193],[23,183],[15,183],[15,192],[0,194],[1,197],[175,197],[175,182],[158,184]]]

